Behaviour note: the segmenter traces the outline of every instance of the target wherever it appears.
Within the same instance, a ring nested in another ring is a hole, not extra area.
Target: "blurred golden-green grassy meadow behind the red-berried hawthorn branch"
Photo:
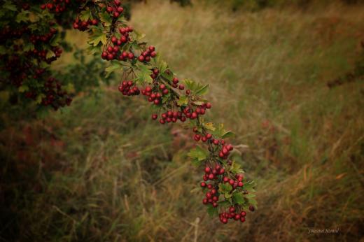
[[[1,111],[0,241],[363,241],[363,2],[192,3],[132,2],[130,21],[180,79],[210,85],[209,118],[237,134],[258,211],[209,218],[190,192],[192,132],[153,122],[114,76],[62,111]],[[87,35],[66,39],[55,71],[99,80],[74,55]]]

